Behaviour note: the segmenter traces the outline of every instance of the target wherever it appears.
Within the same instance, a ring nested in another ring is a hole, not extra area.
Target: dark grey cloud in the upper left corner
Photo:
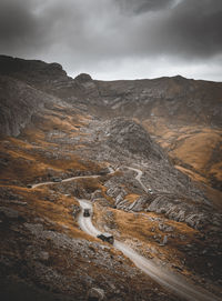
[[[1,53],[28,57],[46,50],[50,30],[47,20],[36,12],[42,2],[42,0],[1,0]]]

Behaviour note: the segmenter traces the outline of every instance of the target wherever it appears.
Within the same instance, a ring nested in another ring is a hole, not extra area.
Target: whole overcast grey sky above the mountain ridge
[[[222,81],[222,0],[0,0],[0,53],[72,77]]]

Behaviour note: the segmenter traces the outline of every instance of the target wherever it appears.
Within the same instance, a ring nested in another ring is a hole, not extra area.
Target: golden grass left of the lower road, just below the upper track
[[[8,188],[21,197],[22,202],[27,202],[27,205],[20,205],[13,203],[13,201],[10,203],[10,208],[19,211],[20,215],[27,221],[33,223],[37,218],[40,218],[46,227],[50,225],[50,229],[64,232],[73,238],[91,240],[88,234],[78,228],[77,219],[73,218],[73,205],[79,205],[73,197],[54,193],[48,187],[26,189],[10,185]]]

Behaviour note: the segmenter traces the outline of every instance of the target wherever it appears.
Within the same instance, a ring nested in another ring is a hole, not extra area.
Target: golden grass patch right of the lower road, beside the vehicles
[[[107,215],[108,211],[112,212],[112,221]],[[159,219],[163,219],[164,224],[173,227],[173,232],[162,232],[159,229],[159,223],[161,222]],[[186,253],[179,249],[180,245],[185,247],[189,243],[196,243],[195,237],[199,233],[199,231],[184,223],[164,219],[162,214],[153,212],[129,213],[103,208],[98,203],[94,203],[93,223],[101,231],[108,231],[107,227],[114,224],[109,232],[112,232],[115,239],[124,241],[147,258],[160,259],[178,267],[181,267],[181,262],[186,259]],[[173,233],[173,237],[171,237],[171,233]],[[168,235],[168,243],[161,247],[155,239],[157,235],[161,235],[160,242],[164,235]],[[180,237],[183,237],[183,240]],[[182,270],[183,274],[191,273],[185,267]]]

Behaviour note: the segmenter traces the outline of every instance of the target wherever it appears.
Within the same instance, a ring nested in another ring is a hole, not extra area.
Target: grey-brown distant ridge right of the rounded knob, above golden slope
[[[110,114],[163,118],[170,124],[222,126],[222,83],[182,77],[134,81],[98,81],[100,106]]]

